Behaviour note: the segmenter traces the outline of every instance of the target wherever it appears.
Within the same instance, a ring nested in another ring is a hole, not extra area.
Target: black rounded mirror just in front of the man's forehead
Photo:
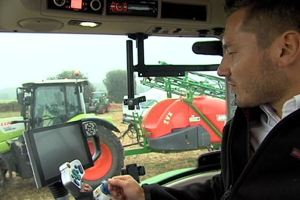
[[[223,56],[222,42],[217,41],[197,41],[192,45],[195,54],[220,55]]]

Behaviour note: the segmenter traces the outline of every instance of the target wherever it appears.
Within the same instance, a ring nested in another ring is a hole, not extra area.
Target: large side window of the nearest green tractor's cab
[[[66,122],[79,112],[73,86],[40,86],[34,95],[34,128]]]

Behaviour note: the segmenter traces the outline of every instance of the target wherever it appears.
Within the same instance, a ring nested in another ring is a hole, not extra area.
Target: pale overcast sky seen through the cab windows
[[[100,83],[108,71],[126,70],[126,40],[125,35],[0,33],[0,89],[46,79],[62,70],[79,70],[90,82]],[[145,64],[220,63],[220,56],[192,52],[192,44],[200,40],[150,36],[144,40]],[[136,54],[134,42],[133,49]]]

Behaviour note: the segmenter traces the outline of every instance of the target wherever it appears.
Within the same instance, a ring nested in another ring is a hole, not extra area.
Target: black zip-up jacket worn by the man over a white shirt
[[[249,120],[259,114],[237,108],[224,126],[221,175],[180,189],[144,184],[146,200],[300,199],[300,109],[280,120],[250,157]]]

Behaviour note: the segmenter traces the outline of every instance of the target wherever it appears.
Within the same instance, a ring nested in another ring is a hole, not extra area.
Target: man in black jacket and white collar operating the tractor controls
[[[218,74],[238,108],[224,127],[221,174],[181,189],[109,179],[115,199],[300,199],[300,2],[225,0]]]

